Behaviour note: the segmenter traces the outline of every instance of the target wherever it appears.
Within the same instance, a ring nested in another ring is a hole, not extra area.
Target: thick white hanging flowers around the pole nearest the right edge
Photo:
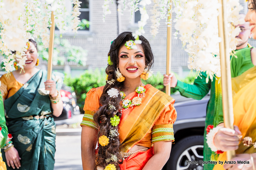
[[[213,80],[214,76],[221,77],[219,42],[218,35],[218,8],[221,5],[217,0],[177,0],[174,11],[176,19],[174,22],[177,34],[180,34],[185,51],[189,54],[188,68],[199,71],[206,71],[208,77]],[[238,43],[235,38],[240,30],[234,24],[241,23],[239,11],[242,6],[239,0],[227,1],[228,31],[230,41],[230,53],[236,49]],[[233,55],[233,53],[231,53]],[[200,75],[199,75],[200,76]],[[208,79],[206,79],[208,80]]]

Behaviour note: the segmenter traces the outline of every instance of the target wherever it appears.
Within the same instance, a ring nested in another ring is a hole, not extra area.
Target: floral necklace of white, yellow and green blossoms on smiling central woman
[[[145,97],[145,91],[146,89],[140,85],[139,87],[136,88],[135,92],[138,93],[138,96],[134,97],[132,100],[124,100],[125,98],[125,93],[123,91],[120,91],[119,94],[122,97],[122,109],[120,110],[121,113],[123,113],[123,111],[126,111],[129,107],[133,106],[139,106],[142,102],[142,99]]]

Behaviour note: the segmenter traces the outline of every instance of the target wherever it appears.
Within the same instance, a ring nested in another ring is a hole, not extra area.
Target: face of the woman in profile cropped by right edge
[[[254,0],[249,0],[248,1],[248,12],[244,18],[245,22],[250,23],[250,30],[251,33],[253,34],[253,39],[256,39],[256,12],[255,9],[253,8],[253,2]]]

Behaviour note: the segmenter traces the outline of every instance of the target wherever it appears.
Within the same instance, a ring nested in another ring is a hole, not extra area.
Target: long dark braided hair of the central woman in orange
[[[143,36],[139,36],[139,39],[142,41],[141,46],[144,50],[145,55],[145,64],[148,65],[148,70],[152,67],[154,63],[154,56],[151,50],[150,44],[147,39]],[[113,84],[106,83],[103,93],[100,97],[100,104],[101,107],[99,110],[94,114],[94,121],[96,122],[97,126],[99,127],[98,132],[98,139],[101,136],[109,137],[110,130],[118,130],[117,126],[112,126],[110,123],[110,118],[114,117],[115,115],[121,118],[122,113],[119,112],[121,106],[119,105],[120,101],[122,100],[121,95],[118,97],[110,97],[107,93],[108,90],[111,88],[115,88],[120,92],[120,88],[123,86],[123,82],[117,81],[117,76],[115,71],[117,70],[119,64],[119,49],[129,40],[135,40],[132,36],[131,32],[123,32],[118,35],[118,37],[112,42],[110,46],[110,50],[108,55],[110,55],[110,60],[112,61],[112,65],[107,66],[106,74],[108,75],[107,80],[114,79],[115,82]],[[116,110],[109,109],[109,104],[113,105]],[[123,163],[122,156],[120,154],[120,140],[119,137],[114,137],[114,140],[109,140],[108,145],[106,146],[99,146],[98,154],[96,156],[96,167],[106,167],[108,164],[114,164],[119,170],[119,164]],[[110,161],[106,162],[106,159],[111,158],[112,155],[117,157],[117,162]],[[95,169],[96,169],[95,167]]]

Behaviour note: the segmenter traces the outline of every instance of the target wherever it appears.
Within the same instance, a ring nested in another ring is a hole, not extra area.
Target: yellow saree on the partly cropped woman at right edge
[[[239,127],[243,137],[252,137],[256,142],[256,66],[242,75],[232,78],[234,125]],[[245,147],[242,142],[236,154],[255,153],[253,145]],[[218,157],[219,161],[226,161],[226,152]],[[223,165],[214,166],[213,170],[224,170]]]

